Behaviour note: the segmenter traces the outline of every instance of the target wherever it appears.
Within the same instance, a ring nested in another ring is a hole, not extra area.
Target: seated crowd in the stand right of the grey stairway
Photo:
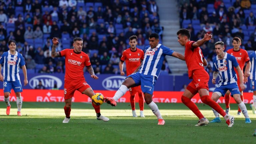
[[[207,72],[212,74],[212,58],[216,56],[214,43],[223,41],[225,50],[233,48],[233,37],[242,40],[240,48],[248,54],[256,50],[256,0],[178,0],[180,27],[191,32],[191,40],[197,41],[204,34],[213,39],[201,46],[207,58]]]

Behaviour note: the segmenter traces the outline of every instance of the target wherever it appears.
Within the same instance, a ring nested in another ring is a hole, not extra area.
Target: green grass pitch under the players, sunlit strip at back
[[[88,103],[73,103],[71,119],[63,124],[64,103],[23,102],[22,117],[17,116],[16,102],[11,103],[11,113],[5,114],[6,105],[0,105],[0,144],[163,144],[163,143],[255,143],[256,115],[247,104],[252,123],[245,124],[243,116],[237,116],[237,105],[231,105],[230,114],[235,124],[228,128],[223,118],[221,123],[195,127],[197,117],[184,104],[157,103],[166,124],[157,125],[157,119],[145,104],[145,118],[133,118],[129,103],[111,107],[104,103],[101,114],[109,122],[96,120],[96,114]],[[214,118],[209,106],[197,104],[208,120]],[[221,104],[222,108],[225,108]],[[137,115],[139,106],[136,104]]]

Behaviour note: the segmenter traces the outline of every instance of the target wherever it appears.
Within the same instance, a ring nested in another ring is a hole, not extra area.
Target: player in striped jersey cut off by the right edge
[[[252,113],[255,114],[256,109],[256,51],[250,54],[250,61],[252,64],[250,79],[251,79],[251,90],[253,91],[253,103],[250,105],[252,108]]]

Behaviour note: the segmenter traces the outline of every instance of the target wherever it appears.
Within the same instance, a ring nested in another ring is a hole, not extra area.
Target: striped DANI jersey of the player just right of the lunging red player
[[[219,59],[216,56],[213,59],[213,71],[219,72],[219,85],[227,85],[231,83],[237,82],[237,75],[234,67],[239,66],[236,58],[225,52],[225,56],[223,59]]]

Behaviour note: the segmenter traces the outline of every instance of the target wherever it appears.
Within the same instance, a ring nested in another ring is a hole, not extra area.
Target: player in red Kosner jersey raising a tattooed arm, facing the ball
[[[56,52],[56,46],[59,43],[58,39],[53,38],[52,42],[52,57],[65,57],[66,73],[64,80],[64,111],[66,118],[63,120],[63,123],[68,123],[70,120],[71,102],[74,92],[78,90],[90,98],[95,94],[90,85],[85,81],[83,71],[84,67],[87,67],[91,78],[97,80],[98,77],[94,74],[88,55],[82,52],[83,40],[81,38],[74,38],[74,49],[64,49],[60,52]],[[109,118],[100,114],[99,105],[94,105],[92,103],[92,106],[95,109],[98,120],[109,121]]]

